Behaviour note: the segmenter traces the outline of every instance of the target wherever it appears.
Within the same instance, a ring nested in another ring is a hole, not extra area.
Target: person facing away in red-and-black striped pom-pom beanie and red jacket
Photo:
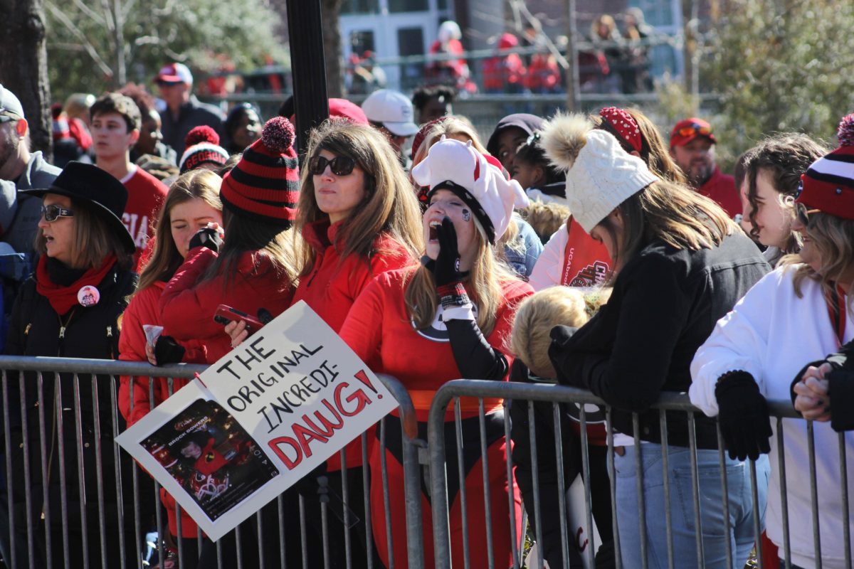
[[[201,340],[208,363],[231,351],[229,335],[213,321],[218,305],[252,315],[264,309],[271,316],[290,305],[296,264],[288,230],[299,183],[293,142],[288,119],[267,121],[260,139],[222,181],[225,240],[219,224],[193,235],[184,263],[161,295],[164,334]]]

